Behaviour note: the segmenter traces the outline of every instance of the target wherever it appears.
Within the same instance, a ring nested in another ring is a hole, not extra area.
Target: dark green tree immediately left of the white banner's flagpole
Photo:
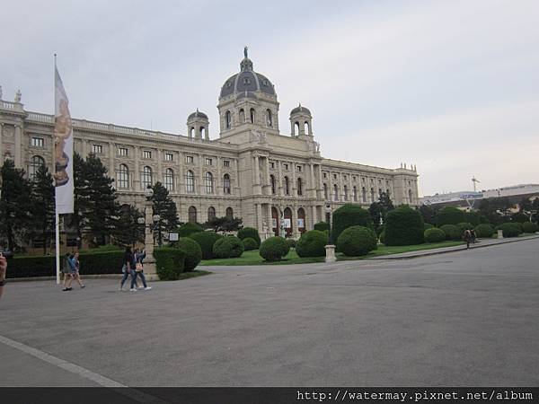
[[[33,227],[43,238],[43,255],[47,255],[47,246],[55,230],[55,189],[52,175],[45,165],[40,166],[33,179],[31,206]]]

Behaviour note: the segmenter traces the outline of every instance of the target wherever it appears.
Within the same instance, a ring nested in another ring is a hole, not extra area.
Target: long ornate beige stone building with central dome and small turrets
[[[199,110],[187,118],[185,135],[74,119],[75,151],[102,159],[120,203],[141,207],[146,186],[161,181],[182,222],[234,215],[261,235],[278,233],[284,217],[287,235],[298,237],[323,220],[326,200],[368,206],[385,191],[393,204],[419,204],[414,167],[324,158],[313,115],[301,104],[290,111],[291,133],[282,134],[274,85],[254,71],[246,51],[240,67],[219,94],[218,138],[210,138]],[[54,116],[24,109],[20,92],[14,102],[0,96],[0,156],[30,176],[43,163],[53,169],[53,127]]]

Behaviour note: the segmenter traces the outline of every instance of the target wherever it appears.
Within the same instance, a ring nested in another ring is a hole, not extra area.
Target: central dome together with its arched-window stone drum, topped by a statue
[[[247,50],[243,49],[240,72],[221,87],[217,104],[221,137],[251,130],[278,135],[275,87],[265,75],[253,70]]]

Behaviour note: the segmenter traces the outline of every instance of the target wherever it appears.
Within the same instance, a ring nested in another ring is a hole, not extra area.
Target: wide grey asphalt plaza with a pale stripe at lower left
[[[137,293],[110,279],[69,293],[11,283],[0,386],[537,385],[538,262],[535,239],[209,268]]]

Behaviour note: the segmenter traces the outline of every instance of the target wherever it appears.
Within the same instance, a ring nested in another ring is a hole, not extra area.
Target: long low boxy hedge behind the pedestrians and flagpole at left
[[[99,250],[99,249],[97,249]],[[81,275],[120,274],[124,251],[81,252]],[[60,260],[65,259],[65,255]],[[24,256],[9,260],[7,277],[54,277],[56,276],[55,256]]]

